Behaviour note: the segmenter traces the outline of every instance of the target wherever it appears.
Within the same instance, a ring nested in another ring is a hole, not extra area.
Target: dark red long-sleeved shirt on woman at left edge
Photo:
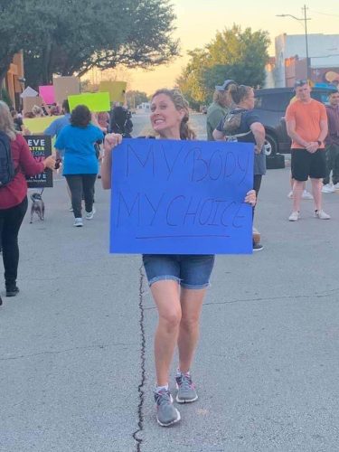
[[[33,158],[22,135],[16,135],[15,139],[11,141],[11,151],[14,168],[19,168],[19,171],[12,182],[0,188],[0,209],[9,209],[23,202],[27,195],[25,175],[39,174],[44,169],[42,162],[36,162]]]

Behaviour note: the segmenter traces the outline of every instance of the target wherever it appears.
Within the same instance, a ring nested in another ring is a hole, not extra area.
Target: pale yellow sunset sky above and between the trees
[[[175,38],[180,39],[181,56],[169,64],[159,66],[152,71],[121,71],[120,78],[127,79],[127,89],[138,89],[151,94],[158,88],[172,88],[175,79],[188,61],[187,51],[202,48],[211,42],[217,31],[240,24],[252,31],[266,30],[271,38],[269,54],[274,56],[274,38],[281,33],[304,34],[303,22],[291,17],[277,17],[276,14],[292,14],[303,17],[302,7],[296,0],[241,0],[239,3],[227,0],[172,0],[175,21]],[[235,7],[235,5],[239,5]],[[339,33],[339,1],[308,1],[308,33]],[[312,50],[310,49],[310,52]],[[339,49],[337,50],[339,53]],[[222,80],[221,80],[222,81]]]

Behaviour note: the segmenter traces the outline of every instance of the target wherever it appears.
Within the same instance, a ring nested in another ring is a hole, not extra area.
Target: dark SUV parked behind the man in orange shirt
[[[311,96],[324,104],[335,88],[314,87]],[[287,153],[291,140],[287,136],[285,112],[290,100],[295,96],[293,88],[256,89],[255,111],[266,130],[266,155]]]

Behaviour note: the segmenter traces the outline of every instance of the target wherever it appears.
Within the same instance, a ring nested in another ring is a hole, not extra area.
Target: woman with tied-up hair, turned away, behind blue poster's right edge
[[[259,116],[253,112],[254,91],[245,85],[231,85],[229,88],[234,108],[221,119],[213,131],[215,140],[239,141],[254,144],[253,188],[259,194],[262,176],[266,174],[266,155],[263,148],[265,142],[265,127],[260,123]],[[253,207],[254,218],[254,207]],[[253,228],[253,251],[262,250],[259,243],[259,232]]]

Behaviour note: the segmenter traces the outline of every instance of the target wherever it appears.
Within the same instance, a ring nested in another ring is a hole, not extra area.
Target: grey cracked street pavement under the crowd
[[[304,201],[289,222],[288,178],[286,168],[263,180],[265,249],[216,259],[193,365],[199,400],[160,428],[141,259],[108,254],[99,181],[97,213],[78,229],[56,176],[46,220],[24,219],[21,292],[0,308],[0,451],[339,450],[339,193],[324,195],[332,220]]]

